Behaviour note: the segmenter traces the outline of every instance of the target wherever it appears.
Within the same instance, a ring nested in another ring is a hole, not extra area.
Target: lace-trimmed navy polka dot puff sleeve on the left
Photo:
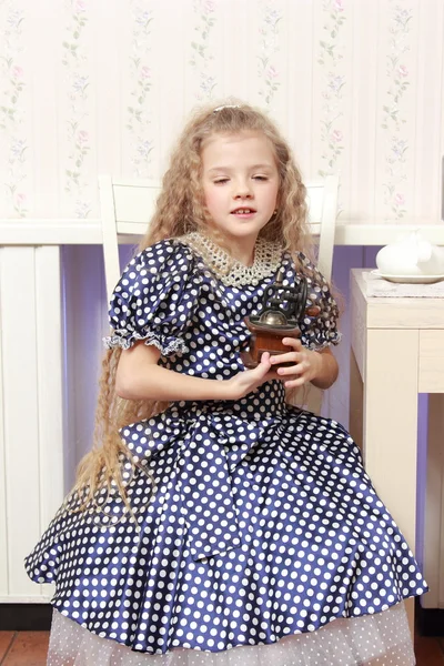
[[[134,256],[110,303],[112,335],[104,346],[130,349],[139,340],[163,356],[186,351],[184,332],[198,297],[192,256],[171,240],[160,241]]]

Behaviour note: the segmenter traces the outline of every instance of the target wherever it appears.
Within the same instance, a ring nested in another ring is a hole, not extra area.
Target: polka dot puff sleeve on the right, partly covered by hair
[[[322,273],[304,254],[300,253],[299,259],[309,287],[306,307],[310,310],[314,305],[320,309],[317,314],[305,314],[301,323],[301,342],[311,350],[320,351],[341,341],[339,307]]]

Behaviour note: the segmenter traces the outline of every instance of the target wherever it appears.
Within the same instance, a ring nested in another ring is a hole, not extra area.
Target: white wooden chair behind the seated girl
[[[337,211],[339,176],[329,175],[323,181],[305,183],[310,224],[313,235],[319,235],[317,265],[331,280],[334,249],[334,229]],[[108,301],[121,274],[119,242],[133,242],[144,235],[160,192],[160,182],[131,181],[99,176],[100,218],[103,233],[103,258]],[[322,392],[311,386],[306,402],[319,413]]]

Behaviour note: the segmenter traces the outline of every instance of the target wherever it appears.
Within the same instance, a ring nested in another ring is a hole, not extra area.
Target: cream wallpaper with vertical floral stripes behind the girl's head
[[[0,216],[98,218],[100,173],[160,178],[190,111],[235,95],[304,178],[340,174],[344,222],[437,221],[443,20],[443,0],[0,0]]]

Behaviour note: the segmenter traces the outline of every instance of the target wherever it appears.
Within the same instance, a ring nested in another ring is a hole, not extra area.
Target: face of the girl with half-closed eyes
[[[254,244],[276,208],[279,173],[272,143],[253,132],[215,134],[202,150],[202,185],[218,229]]]

